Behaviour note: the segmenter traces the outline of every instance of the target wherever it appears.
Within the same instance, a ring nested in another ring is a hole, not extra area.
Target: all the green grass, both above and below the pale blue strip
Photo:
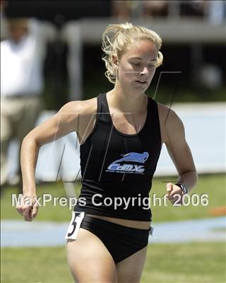
[[[165,194],[165,182],[174,178],[155,178],[152,193]],[[76,183],[79,194],[81,184]],[[11,193],[15,187],[7,187],[1,196],[1,219],[21,219],[15,207],[11,206]],[[62,183],[37,185],[38,195],[51,193],[65,197]],[[207,207],[152,207],[154,221],[200,219],[210,216],[210,209],[225,205],[225,176],[201,175],[192,193],[208,194]],[[151,197],[151,195],[150,195]],[[39,221],[68,221],[71,211],[68,207],[54,207],[48,203],[40,207]],[[147,260],[141,282],[174,283],[217,283],[225,282],[225,243],[179,243],[148,246]],[[1,282],[73,282],[66,261],[64,247],[57,248],[2,248]]]

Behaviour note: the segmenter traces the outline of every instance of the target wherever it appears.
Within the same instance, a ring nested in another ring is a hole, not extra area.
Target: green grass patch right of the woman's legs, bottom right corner
[[[225,280],[225,243],[186,243],[149,246],[141,282]]]

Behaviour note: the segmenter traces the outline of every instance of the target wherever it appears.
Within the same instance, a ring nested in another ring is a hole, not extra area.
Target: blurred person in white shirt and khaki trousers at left
[[[8,18],[8,37],[1,41],[1,187],[8,181],[8,146],[35,127],[43,109],[43,64],[52,25],[35,19]],[[20,166],[11,183],[21,186]]]

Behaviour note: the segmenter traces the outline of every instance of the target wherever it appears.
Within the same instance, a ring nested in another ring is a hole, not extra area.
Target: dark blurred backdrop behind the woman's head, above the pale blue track
[[[164,63],[157,71],[182,71],[177,101],[216,101],[225,94],[225,13],[224,1],[54,1],[54,7],[52,1],[1,1],[1,40],[7,37],[7,17],[52,23],[57,35],[47,45],[44,98],[46,108],[56,110],[71,98],[90,98],[111,87],[101,60],[107,24],[143,24],[163,40]],[[81,78],[67,62],[78,52]],[[72,76],[78,76],[74,86]],[[164,102],[170,101],[171,81],[165,76],[159,89]]]

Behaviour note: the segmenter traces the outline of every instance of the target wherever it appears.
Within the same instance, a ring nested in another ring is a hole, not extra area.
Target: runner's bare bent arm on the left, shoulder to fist
[[[70,132],[78,130],[78,116],[84,110],[85,101],[71,101],[66,103],[54,116],[50,117],[41,125],[32,129],[21,145],[20,166],[23,176],[23,198],[37,197],[35,187],[35,166],[37,156],[42,145],[64,137]],[[18,212],[23,215],[25,221],[32,221],[37,214],[38,205],[28,205],[22,203],[16,207]]]

